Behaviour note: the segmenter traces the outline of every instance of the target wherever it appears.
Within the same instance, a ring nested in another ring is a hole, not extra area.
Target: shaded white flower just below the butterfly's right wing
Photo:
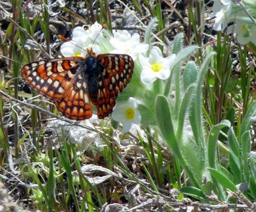
[[[138,103],[132,97],[125,103],[116,105],[113,109],[112,118],[123,124],[124,132],[128,132],[132,123],[138,125],[141,122]]]

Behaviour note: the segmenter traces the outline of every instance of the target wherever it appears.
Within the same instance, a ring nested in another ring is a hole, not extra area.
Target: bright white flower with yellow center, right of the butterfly
[[[140,57],[142,71],[140,79],[144,84],[150,84],[157,78],[167,79],[170,77],[172,63],[176,55],[172,54],[169,57],[163,57],[161,50],[158,47],[153,47],[149,57]]]

